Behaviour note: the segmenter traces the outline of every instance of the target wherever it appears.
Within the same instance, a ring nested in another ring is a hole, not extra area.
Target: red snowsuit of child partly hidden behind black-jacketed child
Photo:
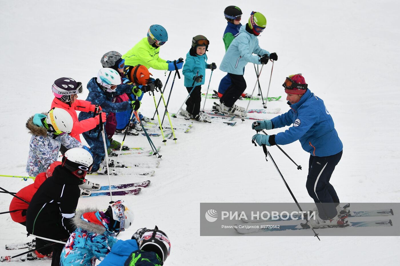
[[[24,199],[28,202],[32,200],[33,195],[38,191],[38,188],[42,183],[48,178],[51,177],[53,174],[54,167],[61,165],[61,162],[55,161],[52,163],[46,172],[40,173],[36,176],[35,181],[33,184],[30,184],[20,191],[18,191],[17,194],[15,194],[17,197],[20,197],[21,199]],[[20,199],[17,199],[16,197],[12,197],[11,203],[10,203],[10,211],[12,210],[18,210],[17,212],[10,212],[11,219],[14,222],[26,222],[26,210],[28,209],[27,203],[23,202]],[[23,213],[23,214],[22,214]]]

